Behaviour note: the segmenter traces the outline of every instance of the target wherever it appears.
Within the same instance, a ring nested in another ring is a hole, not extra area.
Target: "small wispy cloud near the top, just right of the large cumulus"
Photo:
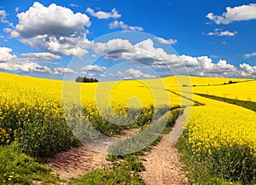
[[[86,12],[89,13],[91,16],[94,16],[101,20],[108,20],[109,18],[117,19],[121,17],[121,14],[119,14],[116,9],[112,9],[111,12],[95,12],[94,9],[87,8]]]

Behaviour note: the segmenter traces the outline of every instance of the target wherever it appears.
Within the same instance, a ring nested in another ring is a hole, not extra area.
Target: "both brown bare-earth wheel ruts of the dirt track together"
[[[185,185],[188,178],[183,172],[183,164],[179,161],[181,154],[172,144],[177,141],[182,133],[181,124],[183,116],[179,116],[172,132],[163,135],[160,143],[153,147],[148,153],[141,156],[146,171],[140,173],[148,185]],[[137,134],[138,130],[127,130],[122,133],[121,137],[132,136]],[[66,152],[57,153],[54,157],[49,158],[46,165],[53,168],[53,172],[58,173],[61,179],[68,181],[71,177],[78,177],[102,165],[110,165],[106,161],[106,154],[96,153],[88,147],[76,147]]]

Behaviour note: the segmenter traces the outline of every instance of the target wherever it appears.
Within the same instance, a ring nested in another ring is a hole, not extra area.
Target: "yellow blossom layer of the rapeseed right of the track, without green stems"
[[[255,112],[198,95],[194,98],[206,105],[188,107],[184,112],[189,143],[203,150],[220,145],[248,146],[256,156]]]

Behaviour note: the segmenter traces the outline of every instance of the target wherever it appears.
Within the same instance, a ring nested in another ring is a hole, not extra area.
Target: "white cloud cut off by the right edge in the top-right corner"
[[[230,24],[233,21],[256,20],[256,3],[241,5],[238,7],[226,8],[226,12],[222,15],[213,13],[207,14],[209,20],[213,20],[216,24]]]

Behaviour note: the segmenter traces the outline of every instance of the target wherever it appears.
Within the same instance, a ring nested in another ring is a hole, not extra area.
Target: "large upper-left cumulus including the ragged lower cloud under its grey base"
[[[88,33],[84,26],[90,26],[86,14],[74,14],[71,9],[52,3],[44,7],[33,3],[26,12],[17,14],[19,23],[10,32],[11,38],[20,38],[22,43],[33,48],[52,51],[61,55],[82,55],[87,53],[84,45]]]

